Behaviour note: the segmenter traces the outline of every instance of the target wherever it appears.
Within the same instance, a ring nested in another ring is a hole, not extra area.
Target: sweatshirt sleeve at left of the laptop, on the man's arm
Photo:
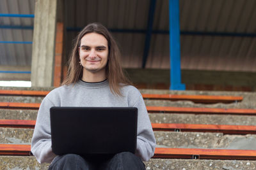
[[[40,164],[44,162],[51,163],[54,157],[56,157],[52,153],[51,148],[50,108],[52,106],[54,104],[45,97],[38,110],[35,130],[31,141],[31,152]]]

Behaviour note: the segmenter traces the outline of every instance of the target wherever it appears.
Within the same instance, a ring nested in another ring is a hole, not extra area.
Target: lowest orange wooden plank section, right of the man
[[[153,158],[161,159],[236,159],[256,160],[256,150],[221,150],[195,148],[156,148]]]

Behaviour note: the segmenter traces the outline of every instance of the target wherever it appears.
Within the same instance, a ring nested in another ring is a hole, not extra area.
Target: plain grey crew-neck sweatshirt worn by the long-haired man
[[[36,118],[31,141],[31,152],[39,163],[51,163],[55,155],[51,148],[49,110],[52,106],[136,107],[138,108],[138,133],[136,155],[147,161],[154,155],[156,139],[148,118],[147,109],[138,89],[128,85],[121,89],[123,96],[111,92],[108,80],[100,83],[78,81],[52,90],[42,101]]]

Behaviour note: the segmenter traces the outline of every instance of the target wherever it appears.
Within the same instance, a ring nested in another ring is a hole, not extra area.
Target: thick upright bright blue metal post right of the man
[[[185,90],[180,73],[179,0],[169,0],[170,24],[170,90]]]

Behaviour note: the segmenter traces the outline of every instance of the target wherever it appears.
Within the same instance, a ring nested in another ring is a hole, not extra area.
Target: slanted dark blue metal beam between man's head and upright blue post
[[[145,45],[143,50],[143,59],[142,59],[142,68],[145,68],[147,58],[148,58],[148,52],[150,48],[150,40],[153,30],[153,22],[154,22],[154,14],[156,10],[156,0],[150,0],[150,7],[148,11],[148,25],[147,25],[147,33],[145,38]]]

